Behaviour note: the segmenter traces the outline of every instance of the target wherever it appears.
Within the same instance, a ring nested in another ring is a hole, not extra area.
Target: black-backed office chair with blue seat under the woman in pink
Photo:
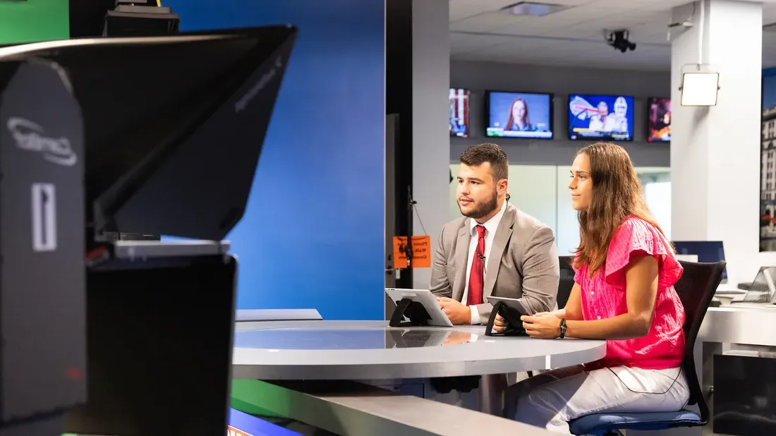
[[[616,412],[591,414],[571,421],[570,430],[577,435],[619,434],[620,430],[652,431],[673,427],[702,427],[708,424],[708,404],[703,396],[698,374],[695,372],[695,339],[701,329],[708,305],[722,282],[726,262],[697,263],[679,261],[684,267],[681,278],[674,285],[684,305],[684,361],[682,368],[690,388],[689,405],[698,404],[700,414],[683,409],[677,412],[645,412],[618,414]]]

